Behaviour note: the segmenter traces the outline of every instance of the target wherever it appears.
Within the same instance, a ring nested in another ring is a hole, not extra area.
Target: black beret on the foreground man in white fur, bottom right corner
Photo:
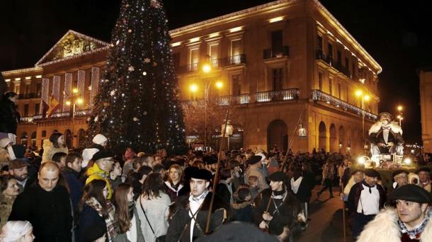
[[[418,185],[407,184],[397,188],[393,192],[390,192],[389,200],[405,200],[419,203],[430,203],[432,202],[432,195],[424,188],[420,188]]]

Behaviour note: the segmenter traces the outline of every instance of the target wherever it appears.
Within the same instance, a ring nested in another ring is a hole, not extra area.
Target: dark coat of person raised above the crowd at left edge
[[[0,93],[3,95],[3,93]],[[15,103],[8,98],[0,102],[0,133],[16,134],[18,122],[21,120],[21,115],[16,109]]]

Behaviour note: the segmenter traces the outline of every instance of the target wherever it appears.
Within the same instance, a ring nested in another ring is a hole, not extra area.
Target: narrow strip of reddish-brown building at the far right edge
[[[432,152],[432,68],[420,69],[421,139],[424,152]]]

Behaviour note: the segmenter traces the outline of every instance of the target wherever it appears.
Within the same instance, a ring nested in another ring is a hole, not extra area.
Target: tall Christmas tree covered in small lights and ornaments
[[[115,151],[179,153],[186,147],[167,22],[160,1],[123,0],[89,139],[104,134]]]

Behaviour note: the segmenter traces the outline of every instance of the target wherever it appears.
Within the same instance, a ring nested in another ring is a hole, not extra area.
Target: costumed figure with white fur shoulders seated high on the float
[[[379,160],[380,154],[404,155],[404,138],[402,128],[397,122],[392,122],[390,113],[380,113],[380,120],[375,122],[369,129],[370,152],[375,161]]]

